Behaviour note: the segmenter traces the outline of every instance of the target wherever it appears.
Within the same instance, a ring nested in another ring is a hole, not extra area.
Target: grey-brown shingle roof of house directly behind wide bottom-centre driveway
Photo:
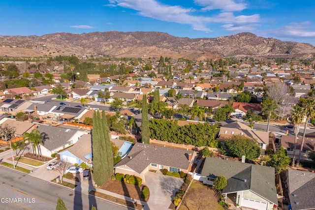
[[[126,165],[139,174],[151,163],[188,170],[188,154],[192,153],[193,151],[136,143],[128,157],[115,167]]]

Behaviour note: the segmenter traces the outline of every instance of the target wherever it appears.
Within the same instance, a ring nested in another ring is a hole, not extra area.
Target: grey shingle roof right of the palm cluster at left
[[[37,130],[43,136],[43,146],[48,150],[54,150],[65,145],[77,130],[40,125]]]

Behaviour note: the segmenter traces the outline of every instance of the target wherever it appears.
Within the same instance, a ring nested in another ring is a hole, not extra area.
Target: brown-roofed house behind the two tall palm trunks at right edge
[[[284,147],[284,149],[286,150],[286,154],[291,158],[293,157],[294,139],[295,139],[295,136],[282,135],[281,142],[280,142],[280,145]],[[296,158],[299,156],[299,153],[300,153],[301,140],[302,140],[302,137],[298,136],[296,150],[295,150]],[[305,135],[303,150],[302,150],[302,159],[310,160],[308,158],[308,154],[311,151],[314,151],[314,149],[315,149],[315,132]]]

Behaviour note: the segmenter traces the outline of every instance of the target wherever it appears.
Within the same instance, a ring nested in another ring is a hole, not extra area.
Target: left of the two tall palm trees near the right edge
[[[296,150],[296,143],[297,143],[297,135],[300,130],[300,124],[304,118],[303,109],[300,106],[295,106],[293,110],[291,110],[291,123],[294,125],[293,132],[295,134],[294,138],[294,146],[293,146],[293,159],[291,166],[295,165],[295,150]]]

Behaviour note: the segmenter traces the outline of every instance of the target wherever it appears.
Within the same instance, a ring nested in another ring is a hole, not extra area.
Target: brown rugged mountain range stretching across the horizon
[[[243,32],[217,38],[176,37],[163,32],[51,33],[42,36],[0,36],[0,56],[108,55],[112,57],[171,57],[191,60],[221,57],[315,58],[307,43],[281,41]]]

